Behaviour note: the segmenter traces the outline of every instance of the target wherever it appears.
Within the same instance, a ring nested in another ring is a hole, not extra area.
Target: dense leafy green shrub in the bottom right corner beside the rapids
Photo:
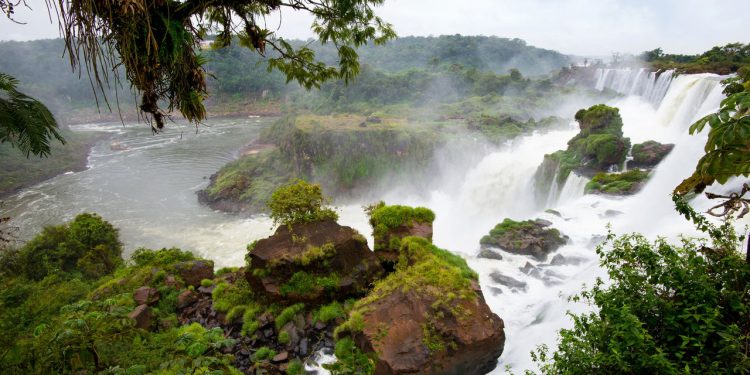
[[[750,371],[750,265],[732,223],[713,226],[678,200],[711,242],[624,235],[597,249],[611,281],[575,300],[596,312],[572,315],[557,351],[534,355],[543,374],[743,374]]]

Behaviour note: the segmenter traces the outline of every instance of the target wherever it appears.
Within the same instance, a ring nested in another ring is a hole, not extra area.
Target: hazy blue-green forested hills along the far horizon
[[[332,46],[309,44],[322,61],[335,61]],[[546,74],[571,61],[566,55],[528,46],[520,39],[460,35],[405,37],[385,46],[361,48],[362,75],[350,84],[351,88],[344,87],[343,82],[330,82],[313,99],[295,83],[287,84],[283,74],[269,72],[263,57],[237,43],[219,50],[207,48],[203,54],[212,76],[209,110],[227,102],[274,100],[289,95],[296,95],[303,107],[319,107],[338,102],[343,94],[347,101],[375,103],[435,99],[446,94],[484,95],[490,91],[505,94],[525,86],[522,76]],[[511,69],[514,69],[512,74]],[[95,108],[97,96],[88,76],[71,70],[60,39],[1,42],[0,71],[18,78],[23,90],[56,114]],[[118,90],[111,83],[104,90],[110,102],[118,100],[122,108],[132,108],[135,98],[128,83],[123,79],[123,87]],[[103,97],[98,95],[100,104]],[[325,103],[320,102],[321,97],[327,98]]]

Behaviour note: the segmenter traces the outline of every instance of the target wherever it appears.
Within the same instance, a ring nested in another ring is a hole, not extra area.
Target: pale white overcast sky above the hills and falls
[[[639,53],[662,47],[699,53],[714,45],[750,42],[748,0],[386,0],[378,14],[400,36],[497,35],[578,55]],[[0,17],[0,40],[55,38],[44,0],[17,9],[16,25]],[[273,24],[278,18],[273,20]],[[312,37],[310,19],[284,14],[279,33]],[[274,26],[275,28],[275,26]]]

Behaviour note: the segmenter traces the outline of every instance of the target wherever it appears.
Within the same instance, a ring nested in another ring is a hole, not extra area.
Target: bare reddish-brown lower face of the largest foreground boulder
[[[486,374],[503,352],[504,324],[490,311],[478,286],[475,290],[476,300],[457,302],[459,316],[441,311],[443,318],[432,318],[435,300],[425,293],[391,293],[368,305],[365,328],[354,339],[363,351],[377,353],[378,375]],[[442,349],[431,350],[426,329]]]

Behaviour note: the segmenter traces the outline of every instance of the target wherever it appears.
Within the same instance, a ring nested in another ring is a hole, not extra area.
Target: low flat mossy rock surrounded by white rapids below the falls
[[[497,247],[509,253],[530,255],[545,260],[547,254],[557,250],[567,242],[567,237],[559,230],[549,228],[552,223],[546,220],[515,221],[505,219],[497,224],[481,240],[484,247]]]

